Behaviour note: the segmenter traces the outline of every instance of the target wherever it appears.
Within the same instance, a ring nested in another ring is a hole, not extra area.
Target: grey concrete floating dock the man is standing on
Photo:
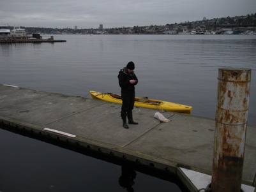
[[[117,103],[0,85],[0,124],[176,174],[190,191],[199,190],[191,172],[211,177],[215,119],[160,111],[171,120],[161,123],[153,117],[159,111],[135,107],[139,125],[124,129],[120,111]],[[248,125],[244,191],[255,190],[255,138]]]

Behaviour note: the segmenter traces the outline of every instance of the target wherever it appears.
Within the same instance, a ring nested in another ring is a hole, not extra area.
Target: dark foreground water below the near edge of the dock
[[[66,144],[57,146],[50,140],[45,143],[36,135],[24,137],[1,127],[0,136],[0,191],[3,192],[159,189],[181,192],[182,186],[170,175],[139,169]]]

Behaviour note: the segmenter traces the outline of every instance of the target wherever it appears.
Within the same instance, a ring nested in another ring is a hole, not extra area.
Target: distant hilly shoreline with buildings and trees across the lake
[[[163,26],[113,27],[103,29],[25,27],[27,33],[41,34],[256,34],[256,13],[220,17]]]

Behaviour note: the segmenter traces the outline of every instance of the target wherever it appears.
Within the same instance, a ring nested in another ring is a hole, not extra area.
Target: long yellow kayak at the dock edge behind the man
[[[103,100],[112,103],[122,103],[121,95],[112,93],[102,93],[97,91],[90,91],[91,97],[94,100]],[[160,110],[167,110],[171,112],[179,112],[183,114],[191,114],[192,107],[187,105],[181,105],[178,103],[171,103],[168,101],[151,100],[147,97],[138,98],[135,97],[134,105],[136,107],[146,107]]]

